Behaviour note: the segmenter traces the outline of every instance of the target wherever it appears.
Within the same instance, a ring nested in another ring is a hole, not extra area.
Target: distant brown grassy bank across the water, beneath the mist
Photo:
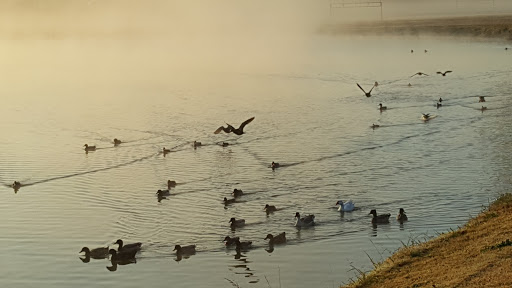
[[[386,20],[329,24],[326,34],[446,35],[499,38],[512,41],[512,16],[473,16],[419,20]]]

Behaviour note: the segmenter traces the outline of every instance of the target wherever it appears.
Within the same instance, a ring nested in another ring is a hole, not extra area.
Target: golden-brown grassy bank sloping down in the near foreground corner
[[[346,287],[512,287],[510,275],[512,194],[505,194],[464,227],[398,250]]]

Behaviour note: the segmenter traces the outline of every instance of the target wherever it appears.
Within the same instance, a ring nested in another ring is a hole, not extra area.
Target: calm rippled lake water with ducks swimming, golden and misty
[[[510,192],[504,43],[317,35],[275,54],[167,55],[174,44],[1,40],[0,286],[338,287],[369,257],[455,229]],[[420,71],[430,76],[410,78]],[[371,98],[356,86],[374,81]],[[242,136],[213,134],[252,116]],[[179,185],[158,202],[168,179]],[[234,188],[245,195],[224,206]],[[340,214],[347,199],[360,209]],[[267,216],[265,204],[280,210]],[[399,208],[408,222],[372,227],[371,209]],[[295,212],[317,225],[296,229]],[[232,231],[231,217],[247,225]],[[263,239],[280,232],[288,244],[268,251]],[[227,235],[254,248],[226,249]],[[143,243],[136,264],[79,259],[118,238]],[[177,261],[176,244],[198,252]]]

